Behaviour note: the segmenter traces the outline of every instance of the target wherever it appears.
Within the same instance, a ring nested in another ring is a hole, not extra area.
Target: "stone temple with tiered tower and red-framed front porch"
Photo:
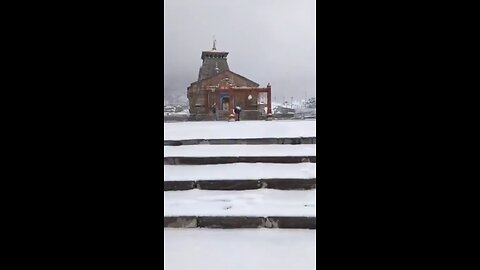
[[[202,52],[202,66],[197,81],[187,88],[191,120],[227,120],[235,107],[241,108],[240,119],[266,119],[272,113],[270,84],[265,88],[230,71],[228,52],[217,51],[215,41],[211,51]],[[214,113],[215,112],[215,113]]]

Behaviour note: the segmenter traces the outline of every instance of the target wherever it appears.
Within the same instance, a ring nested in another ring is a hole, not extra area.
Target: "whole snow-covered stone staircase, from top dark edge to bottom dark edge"
[[[164,227],[316,229],[315,143],[164,141]]]

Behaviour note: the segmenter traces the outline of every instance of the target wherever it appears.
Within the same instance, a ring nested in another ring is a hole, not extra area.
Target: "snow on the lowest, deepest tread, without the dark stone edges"
[[[316,215],[313,190],[165,191],[164,216],[303,216]]]

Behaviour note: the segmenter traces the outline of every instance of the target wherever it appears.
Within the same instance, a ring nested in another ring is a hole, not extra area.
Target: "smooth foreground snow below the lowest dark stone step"
[[[313,270],[316,230],[164,229],[166,270]]]

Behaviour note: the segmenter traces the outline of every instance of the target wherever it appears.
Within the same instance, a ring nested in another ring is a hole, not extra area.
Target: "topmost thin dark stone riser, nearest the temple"
[[[296,138],[245,138],[245,139],[189,139],[189,140],[165,140],[164,146],[181,145],[225,145],[225,144],[316,144],[316,137],[296,137]]]

